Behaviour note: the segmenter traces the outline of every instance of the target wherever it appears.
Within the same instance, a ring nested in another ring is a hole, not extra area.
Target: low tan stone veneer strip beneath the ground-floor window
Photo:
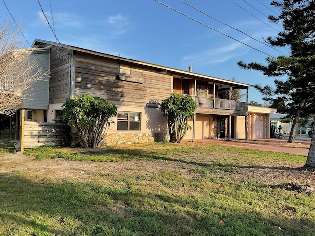
[[[104,145],[152,143],[168,141],[168,133],[111,133],[102,141]]]

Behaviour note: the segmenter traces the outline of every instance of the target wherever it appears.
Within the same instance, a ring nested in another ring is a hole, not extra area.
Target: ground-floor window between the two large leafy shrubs
[[[117,112],[117,130],[140,131],[139,112]]]

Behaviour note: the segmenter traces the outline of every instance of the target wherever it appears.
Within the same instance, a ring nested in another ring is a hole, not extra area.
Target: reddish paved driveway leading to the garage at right
[[[270,142],[270,145],[252,144],[252,143],[245,143],[245,142],[239,142],[239,141],[233,141],[233,140],[223,140],[223,139],[198,139],[196,141],[200,143],[207,143],[207,144],[218,144],[218,145],[225,145],[225,146],[232,146],[232,147],[239,147],[239,148],[257,149],[257,150],[262,150],[262,151],[285,152],[285,153],[305,155],[305,156],[307,156],[309,153],[308,148],[291,148],[291,147],[272,145],[273,142],[287,142],[287,139],[253,139],[253,140],[267,141],[267,142]],[[311,142],[303,140],[303,141],[296,141],[296,143],[310,144]]]

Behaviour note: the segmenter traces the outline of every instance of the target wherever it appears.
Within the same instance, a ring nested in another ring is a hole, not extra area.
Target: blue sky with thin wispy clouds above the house
[[[56,42],[37,0],[4,2],[14,20],[24,24],[22,32],[30,45],[35,38]],[[4,2],[0,1],[1,18],[7,16],[11,20]],[[195,73],[223,79],[235,78],[246,84],[272,85],[275,78],[239,68],[238,61],[265,64],[268,55],[277,57],[287,54],[284,49],[278,48],[279,52],[258,42],[263,42],[263,38],[268,36],[276,36],[283,29],[281,24],[272,23],[266,17],[279,12],[269,0],[185,1],[226,25],[179,0],[161,2],[204,25],[154,0],[39,2],[63,44],[182,70],[188,70],[192,65]],[[249,89],[249,101],[263,104],[261,98],[256,89]]]

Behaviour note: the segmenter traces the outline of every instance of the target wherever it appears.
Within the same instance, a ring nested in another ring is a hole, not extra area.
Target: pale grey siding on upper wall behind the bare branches
[[[47,109],[48,108],[48,91],[49,91],[49,50],[47,51],[34,51],[29,55],[29,60],[37,61],[37,64],[42,69],[42,75],[39,80],[32,84],[32,87],[26,90],[26,99],[19,106],[25,109]],[[36,73],[37,71],[34,71]]]

